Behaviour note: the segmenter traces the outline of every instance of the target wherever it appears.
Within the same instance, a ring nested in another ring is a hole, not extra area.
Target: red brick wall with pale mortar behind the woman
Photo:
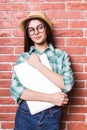
[[[63,108],[61,130],[87,129],[87,0],[0,0],[0,130],[13,129],[17,104],[10,97],[12,65],[23,51],[19,23],[42,10],[54,23],[56,47],[72,61],[75,85]]]

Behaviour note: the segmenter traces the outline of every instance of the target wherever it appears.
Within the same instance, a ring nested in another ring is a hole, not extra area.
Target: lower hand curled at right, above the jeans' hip
[[[57,92],[51,95],[50,101],[57,106],[63,106],[68,103],[69,99],[67,94],[63,92]]]

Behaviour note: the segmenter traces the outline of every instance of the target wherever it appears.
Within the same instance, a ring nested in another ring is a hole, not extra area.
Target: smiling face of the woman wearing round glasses
[[[46,27],[39,20],[33,19],[29,22],[28,34],[34,44],[43,44],[47,42]]]

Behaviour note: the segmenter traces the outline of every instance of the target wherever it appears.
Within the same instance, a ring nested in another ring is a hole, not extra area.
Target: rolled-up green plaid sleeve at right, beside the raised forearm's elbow
[[[63,57],[62,76],[64,81],[64,91],[69,92],[74,85],[74,77],[71,69],[70,58],[66,52]]]

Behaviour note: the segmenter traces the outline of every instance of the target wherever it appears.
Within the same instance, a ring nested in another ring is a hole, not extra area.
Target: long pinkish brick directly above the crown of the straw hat
[[[65,5],[63,3],[38,3],[29,4],[30,10],[64,10]]]

